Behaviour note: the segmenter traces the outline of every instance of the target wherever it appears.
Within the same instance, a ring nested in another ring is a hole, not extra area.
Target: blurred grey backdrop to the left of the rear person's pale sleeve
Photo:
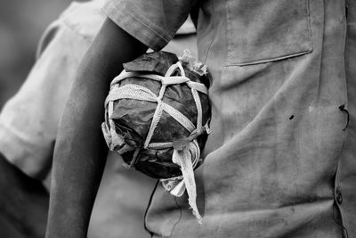
[[[0,7],[0,109],[16,93],[34,64],[36,45],[44,29],[70,2],[11,0]],[[0,237],[25,238],[1,216]]]

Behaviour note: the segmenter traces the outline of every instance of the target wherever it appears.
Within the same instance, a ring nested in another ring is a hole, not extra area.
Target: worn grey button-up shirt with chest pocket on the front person
[[[109,0],[104,11],[160,49],[194,1]],[[212,75],[211,134],[187,197],[158,186],[154,237],[356,237],[356,3],[198,1]]]

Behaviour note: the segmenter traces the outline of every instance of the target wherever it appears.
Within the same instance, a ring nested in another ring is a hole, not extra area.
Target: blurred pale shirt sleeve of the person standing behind
[[[50,168],[61,113],[90,46],[64,24],[44,38],[47,43],[40,47],[42,53],[28,78],[0,113],[0,152],[37,179],[43,179]]]

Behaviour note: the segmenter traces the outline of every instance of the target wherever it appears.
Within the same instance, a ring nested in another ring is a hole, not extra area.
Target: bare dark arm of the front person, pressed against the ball
[[[107,19],[79,67],[54,149],[46,236],[86,237],[106,162],[101,133],[109,83],[147,46]]]

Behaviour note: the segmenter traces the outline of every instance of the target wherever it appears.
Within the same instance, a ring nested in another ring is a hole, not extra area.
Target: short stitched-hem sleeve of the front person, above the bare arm
[[[162,49],[189,16],[195,0],[109,0],[102,11],[153,50]]]

